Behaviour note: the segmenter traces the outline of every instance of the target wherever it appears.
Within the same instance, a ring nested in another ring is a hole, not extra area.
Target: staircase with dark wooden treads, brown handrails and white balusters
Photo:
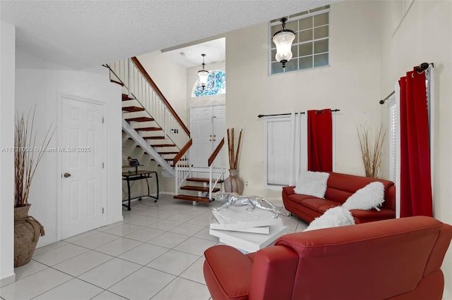
[[[105,65],[110,81],[123,87],[122,130],[150,158],[175,178],[174,199],[208,203],[220,191],[225,171],[224,141],[209,159],[208,178],[193,177],[190,132],[171,107],[138,58]],[[220,154],[220,155],[218,155]],[[206,176],[207,177],[207,176]]]

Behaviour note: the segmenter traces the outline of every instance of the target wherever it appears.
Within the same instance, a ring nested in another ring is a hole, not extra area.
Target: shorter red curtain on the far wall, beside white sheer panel
[[[331,109],[308,111],[308,170],[333,171]]]

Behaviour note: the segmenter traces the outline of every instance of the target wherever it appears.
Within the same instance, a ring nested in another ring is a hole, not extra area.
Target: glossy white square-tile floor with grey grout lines
[[[208,226],[220,204],[194,206],[169,195],[133,202],[124,221],[36,249],[0,298],[208,300],[203,252],[218,244]],[[288,233],[307,227],[294,216],[283,223]]]

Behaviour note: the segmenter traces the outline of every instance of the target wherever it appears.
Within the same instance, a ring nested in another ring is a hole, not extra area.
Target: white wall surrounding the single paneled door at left
[[[37,140],[52,123],[58,125],[59,94],[93,99],[105,104],[107,158],[105,161],[107,182],[107,224],[122,220],[121,208],[121,87],[109,82],[107,68],[71,70],[42,61],[28,53],[16,51],[16,110],[28,113],[37,104],[35,128]],[[58,132],[58,129],[57,129]],[[54,135],[49,147],[63,146]],[[59,239],[57,207],[60,195],[57,185],[61,180],[58,170],[59,153],[43,156],[30,189],[30,215],[44,225],[46,235],[37,246],[44,246]]]

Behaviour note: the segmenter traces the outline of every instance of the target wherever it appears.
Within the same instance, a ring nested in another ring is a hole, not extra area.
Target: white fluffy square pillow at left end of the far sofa
[[[323,199],[326,192],[326,182],[330,173],[304,171],[299,173],[297,186],[294,189],[296,194],[316,196]]]

